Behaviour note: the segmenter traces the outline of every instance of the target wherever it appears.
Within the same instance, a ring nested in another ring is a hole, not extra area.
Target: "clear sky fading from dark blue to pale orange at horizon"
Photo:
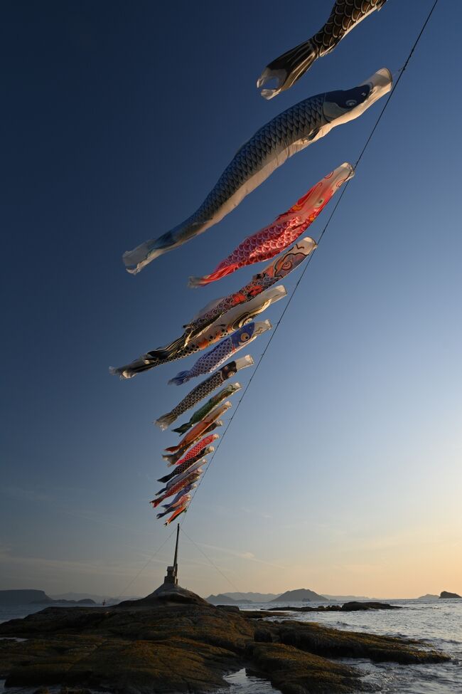
[[[159,585],[173,538],[146,564],[172,528],[148,502],[176,434],[151,421],[195,385],[166,384],[194,357],[129,382],[108,367],[242,286],[255,268],[186,280],[354,163],[381,103],[136,277],[122,253],[191,214],[281,110],[399,70],[432,3],[390,0],[270,102],[257,76],[332,0],[3,4],[1,589]],[[459,14],[439,1],[184,517],[199,594],[462,592]]]

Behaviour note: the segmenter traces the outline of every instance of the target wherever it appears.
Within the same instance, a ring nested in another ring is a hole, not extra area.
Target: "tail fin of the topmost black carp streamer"
[[[264,99],[272,99],[296,83],[301,75],[313,65],[316,58],[318,58],[318,51],[313,46],[311,39],[300,43],[299,46],[286,51],[264,68],[257,80],[257,89],[271,80],[276,80],[274,88],[262,89],[261,91]]]

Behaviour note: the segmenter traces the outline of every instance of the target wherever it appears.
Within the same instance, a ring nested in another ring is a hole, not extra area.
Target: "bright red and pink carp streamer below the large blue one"
[[[351,164],[341,164],[316,183],[289,210],[280,214],[272,224],[242,241],[224,261],[217,265],[213,273],[190,278],[190,286],[202,287],[234,273],[245,265],[253,265],[274,258],[313,224],[338,189],[354,175]],[[316,242],[312,243],[313,248],[316,248]]]

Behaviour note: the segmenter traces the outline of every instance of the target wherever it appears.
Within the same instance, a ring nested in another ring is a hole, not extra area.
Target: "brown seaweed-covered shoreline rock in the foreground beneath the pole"
[[[106,689],[117,694],[202,693],[223,675],[257,670],[284,694],[365,690],[356,668],[328,658],[424,663],[447,658],[398,638],[318,624],[264,621],[259,611],[219,608],[179,587],[102,608],[48,607],[0,624],[6,687]]]

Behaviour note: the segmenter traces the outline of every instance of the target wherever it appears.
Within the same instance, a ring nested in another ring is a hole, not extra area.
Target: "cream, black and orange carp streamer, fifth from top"
[[[190,341],[185,345],[182,335],[177,340],[173,340],[167,347],[147,352],[139,359],[135,359],[131,364],[126,364],[117,369],[111,368],[109,372],[118,374],[121,379],[129,379],[160,364],[167,364],[168,362],[176,361],[176,359],[189,357],[190,354],[207,349],[207,347],[214,345],[215,342],[222,340],[223,337],[235,332],[238,328],[252,321],[254,317],[266,310],[272,303],[279,301],[285,296],[286,289],[282,285],[270,288],[261,295],[254,297],[245,306],[237,305],[233,307],[220,320],[213,322],[206,332],[201,333],[197,340]],[[178,347],[181,347],[181,349],[178,349]]]

